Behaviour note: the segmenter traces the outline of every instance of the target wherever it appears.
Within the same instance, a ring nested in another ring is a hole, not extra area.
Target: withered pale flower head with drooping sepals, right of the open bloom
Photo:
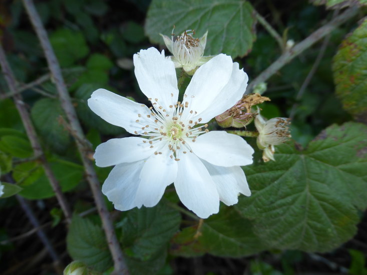
[[[266,162],[274,159],[274,145],[279,145],[287,141],[290,137],[289,118],[274,117],[265,120],[258,111],[255,117],[255,126],[259,135],[257,136],[257,146],[263,150],[262,159]]]

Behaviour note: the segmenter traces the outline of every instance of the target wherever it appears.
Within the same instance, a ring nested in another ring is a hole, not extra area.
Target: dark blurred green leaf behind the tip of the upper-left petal
[[[77,113],[80,119],[90,128],[96,128],[101,133],[117,135],[125,130],[122,127],[112,125],[95,114],[87,105],[88,98],[101,84],[82,84],[75,92],[75,97],[78,98]],[[107,88],[106,86],[104,86]]]

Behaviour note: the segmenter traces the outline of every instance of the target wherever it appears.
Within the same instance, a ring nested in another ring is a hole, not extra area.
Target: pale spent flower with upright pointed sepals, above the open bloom
[[[196,67],[201,66],[213,56],[203,56],[208,31],[200,39],[192,37],[192,33],[188,31],[190,30],[182,32],[175,40],[173,40],[173,34],[171,38],[161,35],[168,50],[173,54],[171,59],[175,67],[182,67],[189,74],[193,74]]]

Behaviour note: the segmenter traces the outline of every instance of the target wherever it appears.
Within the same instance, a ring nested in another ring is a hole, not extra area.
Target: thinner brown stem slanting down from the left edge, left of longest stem
[[[34,156],[38,157],[42,163],[42,166],[45,170],[45,174],[47,176],[47,178],[49,179],[51,186],[56,194],[56,198],[64,212],[64,215],[67,219],[68,222],[71,221],[71,210],[69,207],[69,204],[61,190],[60,184],[58,182],[58,180],[55,177],[54,172],[51,169],[50,164],[47,162],[47,159],[45,157],[45,153],[41,147],[40,141],[38,140],[37,134],[36,134],[36,130],[35,127],[33,126],[31,117],[27,111],[26,105],[23,102],[23,98],[22,95],[19,93],[16,93],[16,79],[14,76],[14,73],[8,63],[8,60],[5,56],[5,52],[4,49],[2,47],[2,45],[0,44],[0,64],[2,66],[3,69],[3,73],[5,76],[5,79],[8,83],[9,89],[12,93],[14,93],[13,98],[14,98],[14,102],[17,106],[17,109],[19,111],[19,114],[21,115],[22,118],[22,122],[23,125],[26,129],[28,138],[31,141],[32,144],[32,148],[33,148],[33,152],[34,152]]]

